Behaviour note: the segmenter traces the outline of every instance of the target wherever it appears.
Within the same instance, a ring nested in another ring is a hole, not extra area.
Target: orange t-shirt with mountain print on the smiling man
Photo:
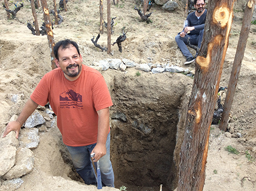
[[[96,143],[96,111],[113,105],[101,73],[86,65],[82,65],[81,75],[72,82],[60,68],[46,73],[31,98],[40,106],[50,102],[63,143],[68,146]]]

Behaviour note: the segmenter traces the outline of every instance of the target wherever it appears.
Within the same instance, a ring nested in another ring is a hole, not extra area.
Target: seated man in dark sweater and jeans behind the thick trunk
[[[204,23],[207,13],[207,10],[205,9],[205,1],[194,0],[194,8],[196,8],[196,11],[187,16],[187,26],[184,27],[181,33],[178,33],[178,35],[175,36],[177,45],[187,59],[184,63],[185,65],[191,64],[195,59],[190,51],[188,51],[186,46],[187,39],[189,38],[191,45],[197,45],[198,48],[200,48],[204,35]]]

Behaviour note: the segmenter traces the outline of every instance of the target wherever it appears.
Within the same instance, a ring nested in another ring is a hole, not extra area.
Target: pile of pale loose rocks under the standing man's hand
[[[19,97],[13,95],[13,97]],[[14,115],[10,121],[16,120]],[[34,166],[34,153],[40,140],[38,133],[46,132],[47,128],[53,127],[56,121],[51,107],[39,106],[29,116],[21,128],[19,139],[16,133],[11,131],[5,138],[3,132],[0,138],[0,190],[15,190],[21,186],[21,176],[32,171]],[[25,128],[24,128],[25,127]]]

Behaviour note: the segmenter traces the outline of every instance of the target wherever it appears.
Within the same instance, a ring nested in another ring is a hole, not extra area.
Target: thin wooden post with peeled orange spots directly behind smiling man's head
[[[52,23],[51,23],[46,0],[41,0],[41,4],[42,4],[42,11],[44,12],[45,28],[46,28],[48,44],[51,52],[51,64],[52,64],[52,70],[53,70],[53,69],[56,69],[57,66],[54,62],[53,47],[55,44],[54,44],[54,38],[53,38],[53,32],[52,32]]]

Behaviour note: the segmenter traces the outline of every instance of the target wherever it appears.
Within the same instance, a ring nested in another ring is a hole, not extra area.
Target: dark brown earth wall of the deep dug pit
[[[193,79],[129,69],[103,72],[111,91],[111,155],[117,187],[159,187],[178,181],[179,152]],[[117,114],[121,117],[117,117]]]

